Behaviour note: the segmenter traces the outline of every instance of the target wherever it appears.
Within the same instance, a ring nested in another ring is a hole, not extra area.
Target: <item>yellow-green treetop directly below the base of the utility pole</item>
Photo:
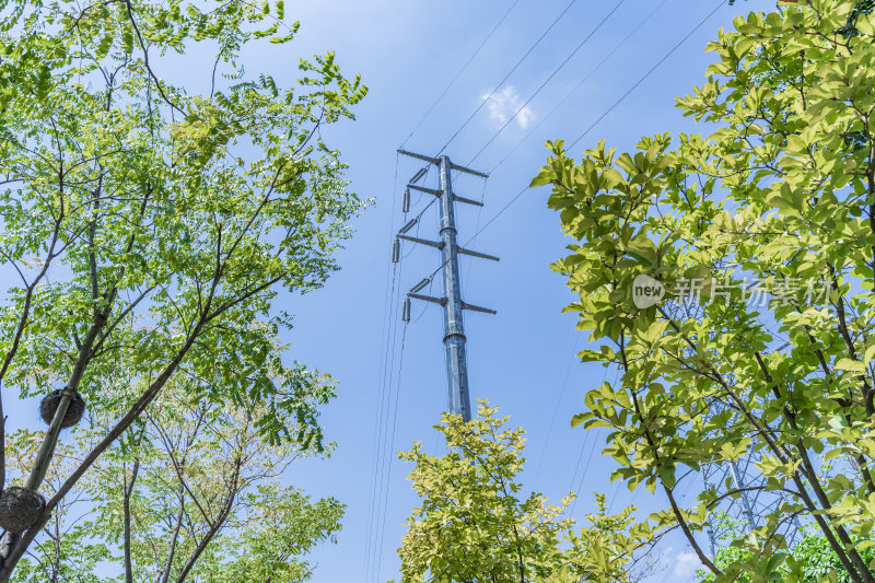
[[[497,411],[481,403],[467,423],[444,413],[435,425],[446,439],[443,456],[420,442],[398,454],[415,464],[408,479],[422,499],[398,549],[401,581],[633,580],[646,540],[645,527],[630,528],[635,509],[609,515],[596,495],[596,514],[575,533],[574,521],[562,517],[573,492],[556,505],[537,492],[522,494],[523,431],[504,429],[508,418]]]

